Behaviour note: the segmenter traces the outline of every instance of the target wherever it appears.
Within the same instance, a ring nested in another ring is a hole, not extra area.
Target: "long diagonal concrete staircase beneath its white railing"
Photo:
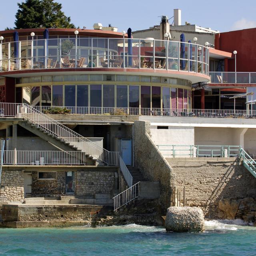
[[[82,151],[80,148],[78,148],[75,145],[72,145],[70,142],[66,140],[62,140],[61,138],[57,138],[53,134],[50,134],[49,132],[43,130],[42,128],[36,126],[35,124],[32,124],[28,120],[24,120],[22,122],[18,122],[20,126],[25,128],[26,130],[36,134],[38,137],[42,138],[43,140],[46,140],[47,142],[53,144],[57,148],[63,150],[63,151]],[[96,165],[96,158],[93,156],[90,156],[90,154],[84,153],[86,158],[85,162],[86,165]]]

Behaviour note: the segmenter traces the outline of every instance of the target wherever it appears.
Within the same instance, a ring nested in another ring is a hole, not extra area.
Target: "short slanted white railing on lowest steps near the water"
[[[120,207],[128,204],[128,202],[131,202],[135,198],[140,196],[140,182],[137,182],[130,188],[127,188],[120,194],[113,197],[114,199],[114,211],[119,209]]]

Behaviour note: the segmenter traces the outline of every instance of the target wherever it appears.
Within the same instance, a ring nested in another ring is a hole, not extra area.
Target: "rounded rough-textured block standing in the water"
[[[200,232],[204,231],[204,214],[198,207],[169,207],[165,220],[166,231]]]

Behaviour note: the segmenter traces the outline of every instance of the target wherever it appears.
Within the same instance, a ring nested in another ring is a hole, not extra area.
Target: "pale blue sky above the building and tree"
[[[13,27],[17,2],[1,0],[0,30]],[[24,2],[24,0],[23,0]],[[185,21],[221,32],[256,27],[255,0],[57,0],[75,26],[92,29],[94,23],[117,26],[118,31],[146,29],[160,23],[161,15],[182,10]],[[132,6],[128,10],[128,6]],[[172,22],[172,21],[171,21]]]

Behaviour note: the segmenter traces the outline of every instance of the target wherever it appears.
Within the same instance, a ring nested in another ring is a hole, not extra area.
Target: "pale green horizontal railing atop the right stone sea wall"
[[[224,145],[156,145],[166,158],[175,157],[238,157],[240,146]]]

